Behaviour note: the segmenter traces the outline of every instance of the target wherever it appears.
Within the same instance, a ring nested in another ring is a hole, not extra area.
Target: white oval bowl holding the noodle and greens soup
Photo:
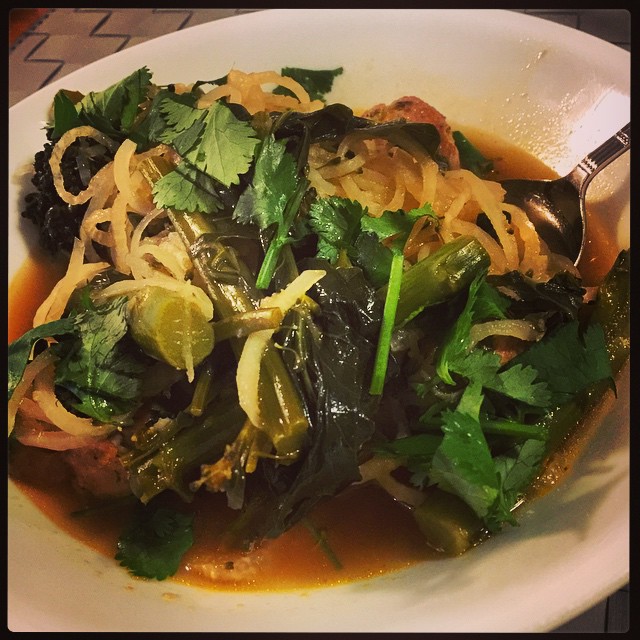
[[[273,10],[126,49],[10,109],[10,176],[44,142],[58,89],[105,88],[141,66],[158,83],[283,66],[342,66],[331,100],[355,108],[413,94],[459,125],[537,155],[562,174],[629,121],[629,54],[560,25],[496,10]],[[590,188],[629,244],[629,156]],[[25,179],[9,188],[9,277],[29,251]],[[24,232],[27,232],[26,234]],[[13,631],[547,631],[629,579],[629,386],[619,387],[571,476],[509,528],[456,559],[352,584],[285,593],[142,582],[56,529],[10,482]]]

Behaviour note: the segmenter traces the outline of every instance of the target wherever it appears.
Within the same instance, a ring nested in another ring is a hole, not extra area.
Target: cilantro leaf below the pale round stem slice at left
[[[127,333],[126,301],[116,298],[76,316],[78,338],[56,345],[64,354],[56,367],[56,384],[77,399],[78,411],[109,422],[138,404],[144,365],[122,347]]]

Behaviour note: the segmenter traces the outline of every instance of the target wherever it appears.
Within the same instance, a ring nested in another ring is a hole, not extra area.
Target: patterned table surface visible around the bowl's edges
[[[53,80],[111,53],[172,31],[255,9],[13,9],[9,14],[9,106]],[[624,9],[522,9],[631,50],[631,16]],[[73,36],[73,38],[70,38]],[[558,633],[629,629],[625,586]]]

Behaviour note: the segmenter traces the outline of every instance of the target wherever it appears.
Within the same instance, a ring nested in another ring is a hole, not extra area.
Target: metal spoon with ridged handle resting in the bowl
[[[577,264],[585,243],[585,194],[591,180],[631,147],[631,123],[588,154],[564,178],[503,180],[505,202],[528,214],[555,253]]]

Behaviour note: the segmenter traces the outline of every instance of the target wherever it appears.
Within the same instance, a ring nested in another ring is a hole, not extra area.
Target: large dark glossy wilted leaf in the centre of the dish
[[[368,377],[380,327],[381,303],[360,269],[323,260],[301,268],[327,275],[309,294],[320,313],[292,311],[281,337],[283,357],[300,385],[310,417],[303,455],[292,465],[265,460],[247,479],[249,496],[236,535],[276,537],[327,496],[360,478],[358,454],[375,431],[379,397]],[[257,477],[256,477],[257,476]]]

